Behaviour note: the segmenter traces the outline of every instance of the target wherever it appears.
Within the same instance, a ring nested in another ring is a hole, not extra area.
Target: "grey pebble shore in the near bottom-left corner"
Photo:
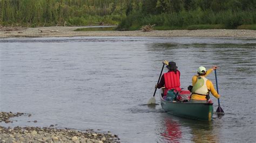
[[[25,113],[0,112],[0,122],[10,123],[12,117],[28,115]],[[52,127],[3,127],[0,126],[0,142],[120,142],[118,135],[96,133],[93,130],[78,131],[68,128]]]

